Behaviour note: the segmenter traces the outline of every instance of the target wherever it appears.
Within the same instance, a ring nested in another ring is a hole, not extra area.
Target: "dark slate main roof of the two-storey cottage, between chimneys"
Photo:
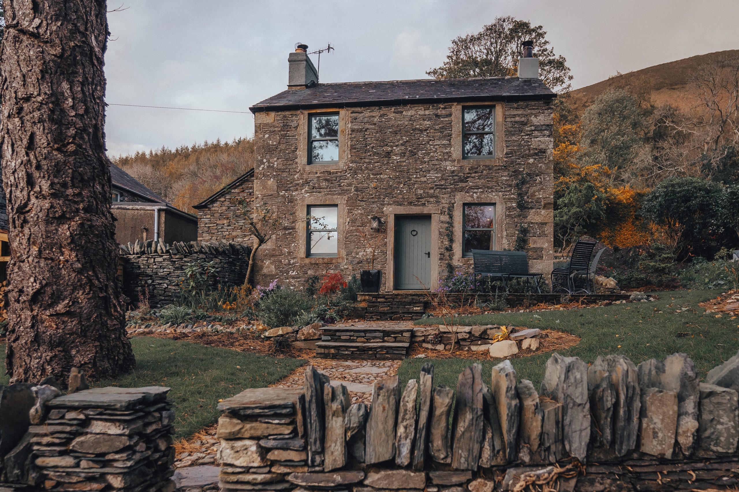
[[[556,94],[538,78],[427,78],[416,81],[316,83],[307,89],[282,91],[249,109],[259,112],[271,109],[554,97]]]

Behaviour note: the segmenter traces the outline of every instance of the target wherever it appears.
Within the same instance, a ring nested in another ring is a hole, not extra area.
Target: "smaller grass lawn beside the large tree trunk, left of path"
[[[216,406],[247,388],[261,388],[285,377],[305,361],[273,358],[236,350],[173,341],[134,337],[136,369],[113,381],[95,386],[169,386],[174,400],[175,437],[187,437],[215,423]],[[5,347],[0,346],[2,353]],[[4,363],[0,383],[7,383]]]

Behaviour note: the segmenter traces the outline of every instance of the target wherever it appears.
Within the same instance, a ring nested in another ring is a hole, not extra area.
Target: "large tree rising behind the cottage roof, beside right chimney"
[[[556,92],[570,89],[572,75],[567,60],[556,55],[542,26],[532,26],[511,16],[496,17],[480,33],[452,40],[446,61],[426,74],[434,78],[505,77],[516,75],[521,43],[534,41],[542,81]]]

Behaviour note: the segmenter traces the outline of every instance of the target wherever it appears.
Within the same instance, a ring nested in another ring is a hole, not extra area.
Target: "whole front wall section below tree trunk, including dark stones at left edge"
[[[0,387],[0,491],[174,491],[168,391]]]

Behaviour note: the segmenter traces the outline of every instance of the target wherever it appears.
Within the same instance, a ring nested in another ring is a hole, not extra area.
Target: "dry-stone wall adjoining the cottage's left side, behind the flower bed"
[[[211,279],[211,287],[240,285],[246,278],[250,253],[251,247],[234,242],[129,242],[120,245],[123,293],[136,303],[146,292],[151,307],[171,304],[180,292],[185,267],[197,261],[215,262],[217,279]]]

